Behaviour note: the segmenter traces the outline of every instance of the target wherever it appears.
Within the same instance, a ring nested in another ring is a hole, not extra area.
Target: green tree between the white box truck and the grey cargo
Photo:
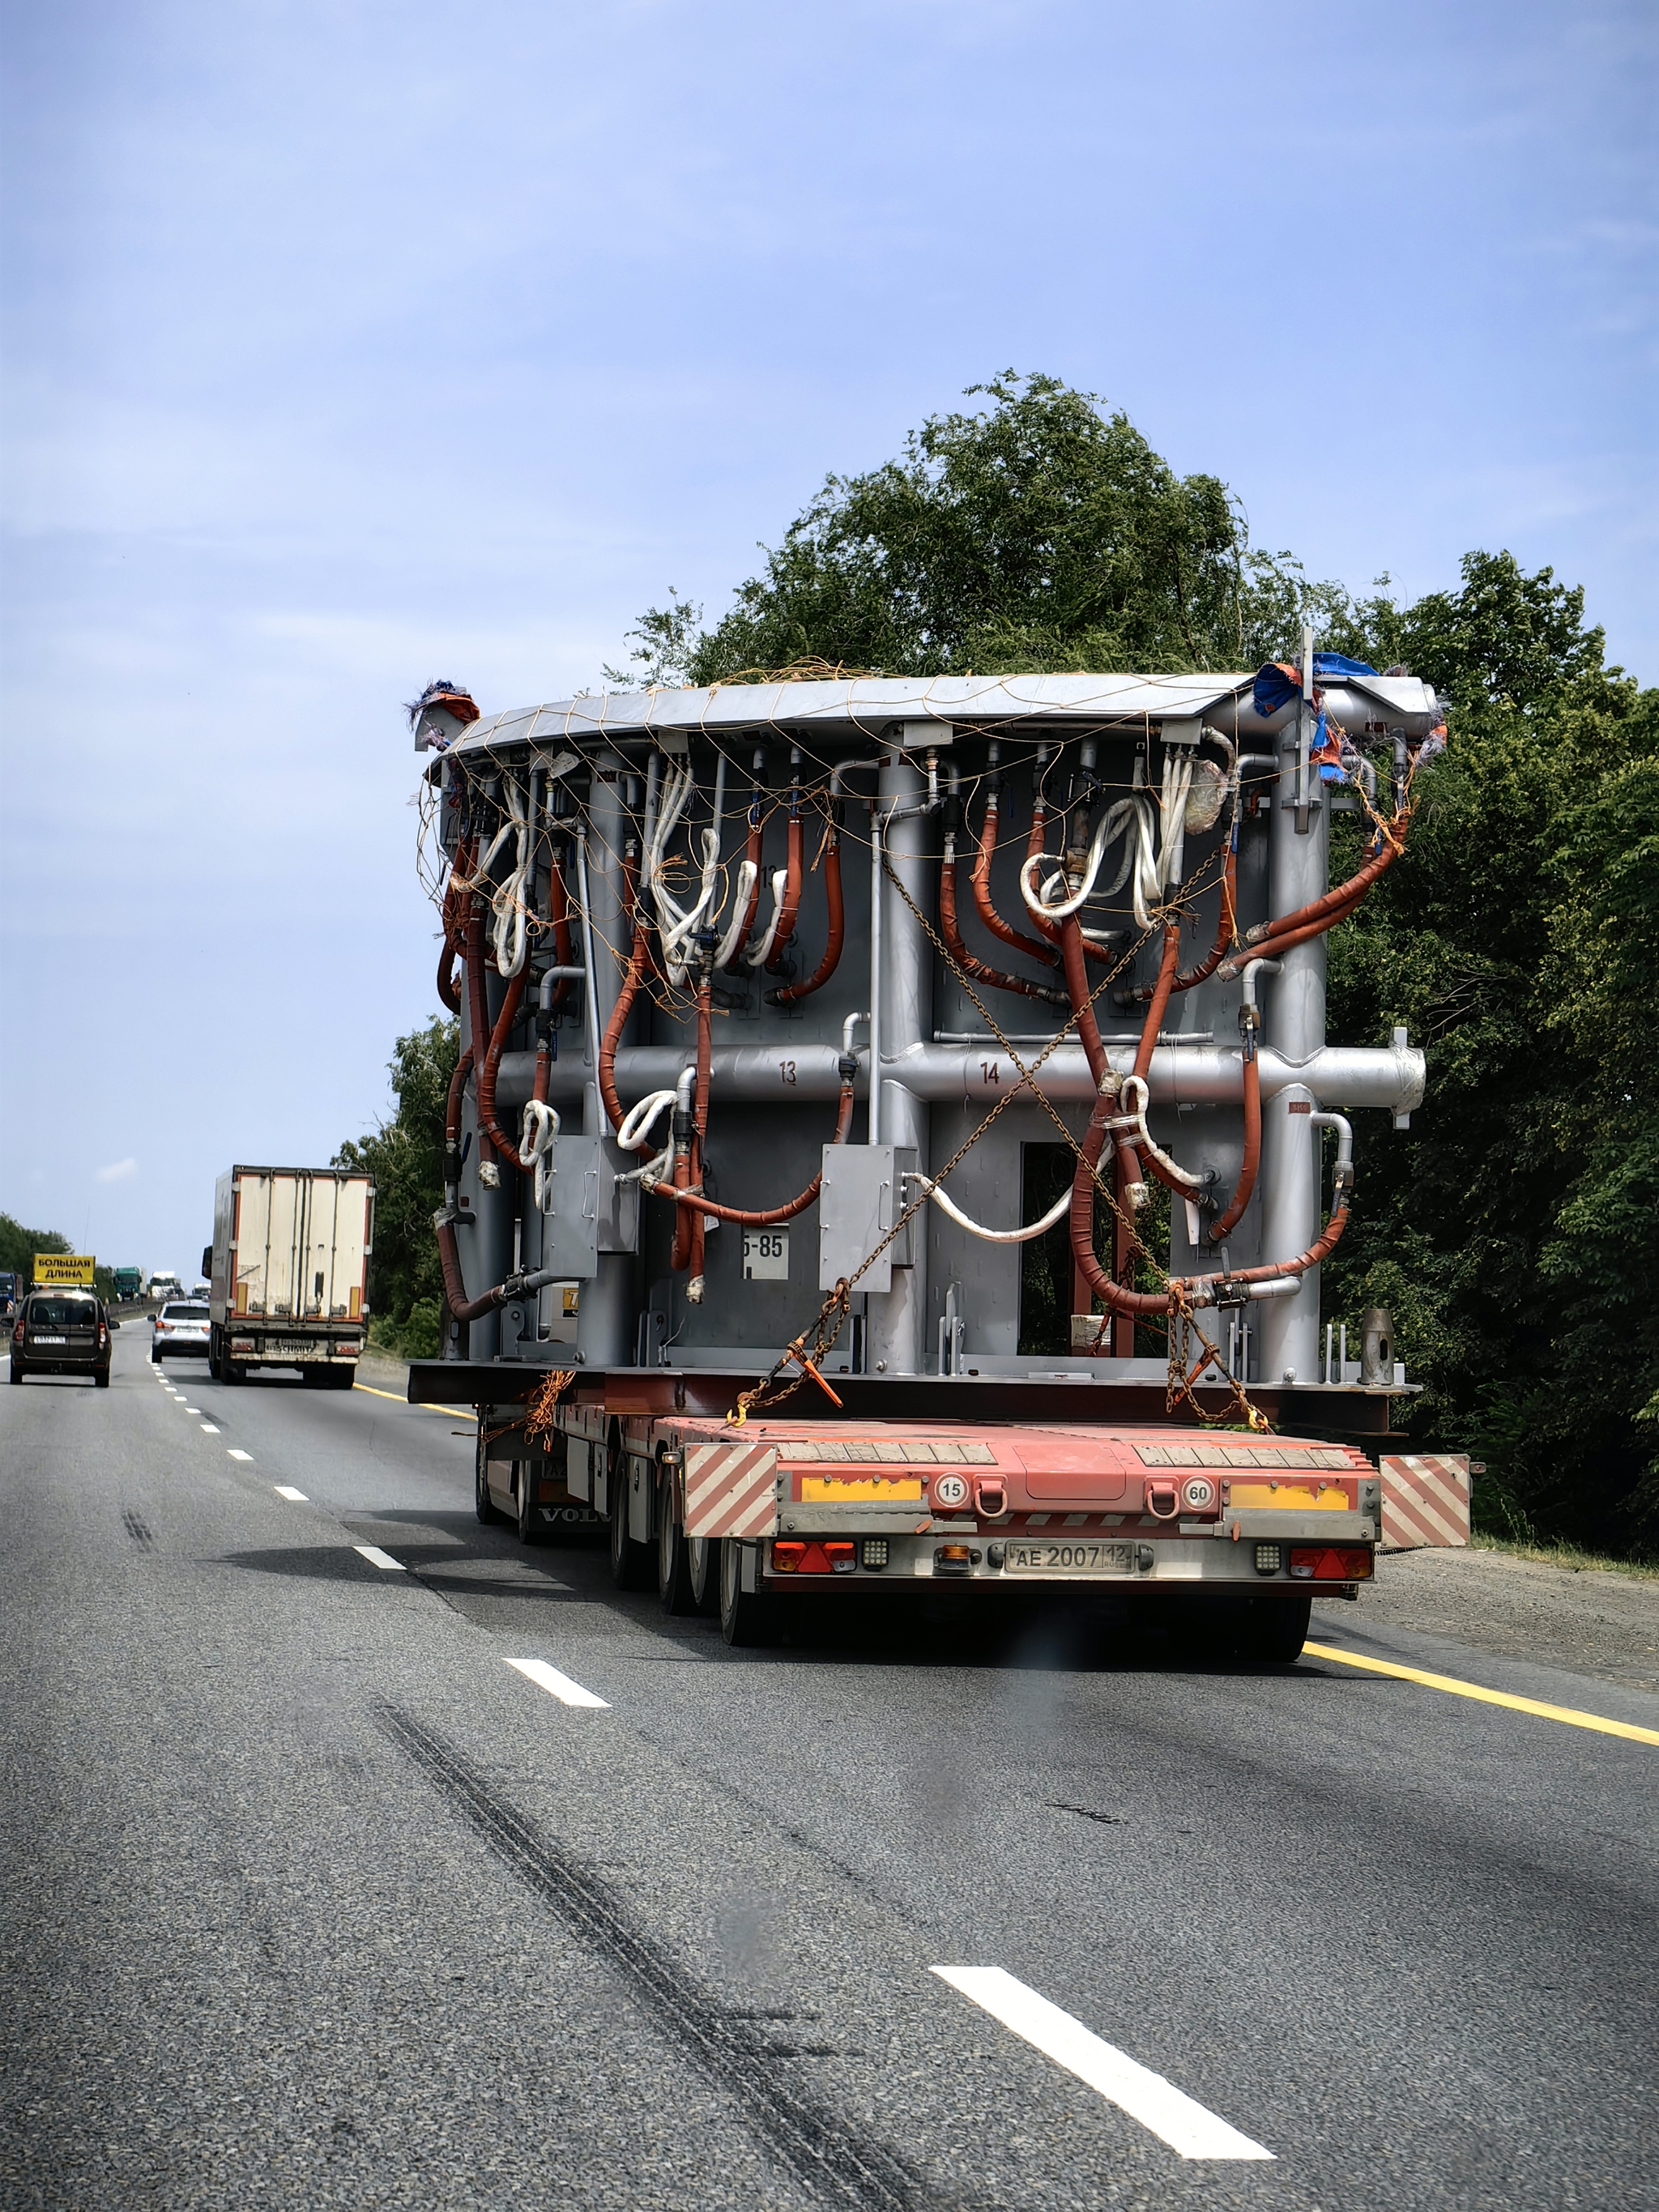
[[[434,1020],[398,1037],[387,1064],[398,1110],[334,1155],[336,1168],[374,1177],[372,1329],[411,1358],[438,1352],[442,1272],[431,1217],[442,1203],[445,1104],[458,1053],[456,1022]]]

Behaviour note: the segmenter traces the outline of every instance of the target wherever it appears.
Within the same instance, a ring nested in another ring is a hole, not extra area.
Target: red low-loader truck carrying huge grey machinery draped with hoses
[[[480,1515],[599,1517],[732,1641],[1082,1586],[1301,1650],[1405,1387],[1321,1347],[1347,1117],[1425,1088],[1405,1031],[1325,1042],[1325,931],[1433,690],[1305,637],[411,717],[462,1053],[409,1396],[478,1407]]]

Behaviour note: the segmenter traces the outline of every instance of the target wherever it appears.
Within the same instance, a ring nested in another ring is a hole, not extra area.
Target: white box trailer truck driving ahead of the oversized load
[[[345,1168],[228,1168],[212,1194],[208,1367],[299,1367],[349,1389],[369,1325],[374,1179]]]

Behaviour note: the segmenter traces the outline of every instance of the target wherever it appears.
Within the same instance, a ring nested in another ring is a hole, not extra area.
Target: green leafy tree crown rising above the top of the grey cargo
[[[670,595],[628,633],[635,672],[606,675],[1239,668],[1285,650],[1305,606],[1347,606],[1287,555],[1252,553],[1219,478],[1177,476],[1091,394],[1013,369],[969,394],[989,405],[931,416],[867,476],[830,476],[712,630]]]

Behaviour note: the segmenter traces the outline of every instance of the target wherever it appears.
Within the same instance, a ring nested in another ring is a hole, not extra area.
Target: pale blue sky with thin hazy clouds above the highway
[[[717,615],[1048,369],[1256,542],[1588,586],[1659,679],[1659,18],[60,0],[4,38],[0,1208],[190,1267],[431,1011],[398,701]]]

